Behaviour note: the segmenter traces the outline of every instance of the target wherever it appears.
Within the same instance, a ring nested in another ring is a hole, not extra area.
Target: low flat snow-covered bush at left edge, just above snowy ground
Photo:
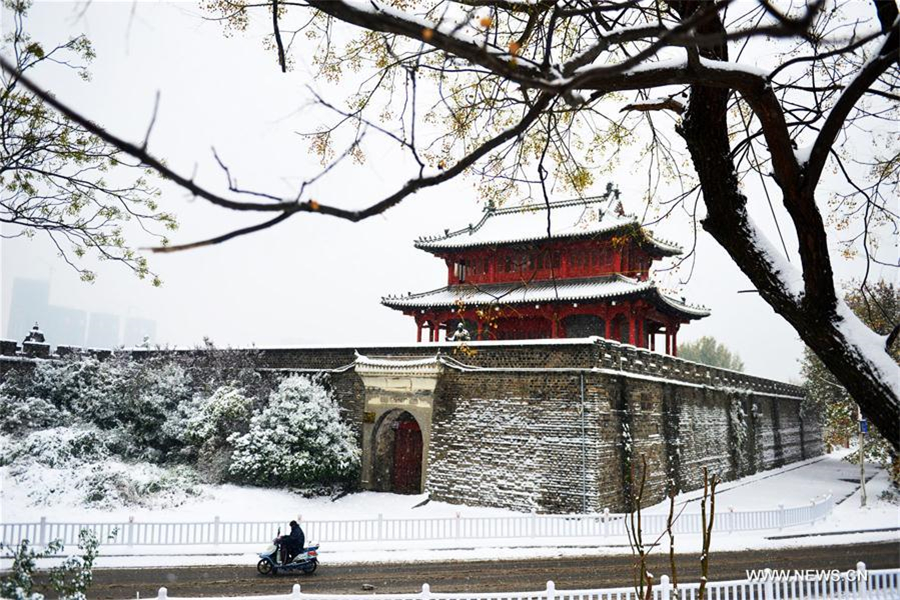
[[[8,441],[0,451],[0,465],[34,462],[48,467],[75,467],[109,458],[105,434],[89,427],[54,427]]]

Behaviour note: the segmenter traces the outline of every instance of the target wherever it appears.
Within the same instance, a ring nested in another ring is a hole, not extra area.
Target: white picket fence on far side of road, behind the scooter
[[[774,510],[719,510],[715,531],[752,531],[782,529],[814,523],[825,518],[834,506],[831,494],[811,500],[804,506]],[[645,534],[665,531],[667,515],[643,514]],[[82,529],[93,530],[106,545],[178,546],[199,544],[261,544],[285,528],[282,521],[222,521],[218,517],[203,523],[146,523],[128,520],[121,523],[55,523],[42,518],[32,523],[0,524],[0,541],[8,545],[27,539],[43,546],[52,540],[76,544]],[[453,517],[425,519],[349,519],[303,521],[306,539],[325,543],[390,542],[428,540],[486,540],[514,538],[604,538],[627,535],[628,515],[604,511],[589,515],[522,515],[514,517]],[[700,533],[699,513],[682,513],[674,524],[680,534]],[[115,535],[113,535],[115,532]]]

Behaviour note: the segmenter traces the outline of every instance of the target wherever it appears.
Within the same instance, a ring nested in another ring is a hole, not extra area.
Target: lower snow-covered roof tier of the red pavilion
[[[407,296],[387,296],[381,303],[390,308],[452,307],[490,304],[530,304],[613,299],[638,293],[658,297],[666,306],[693,318],[709,315],[709,309],[691,306],[659,291],[652,281],[639,281],[623,275],[585,279],[544,280],[534,282],[450,285],[430,292]]]

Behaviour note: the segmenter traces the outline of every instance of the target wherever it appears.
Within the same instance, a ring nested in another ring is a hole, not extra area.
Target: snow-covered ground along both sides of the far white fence
[[[840,500],[832,514],[814,525],[790,527],[784,530],[717,533],[712,548],[718,551],[786,546],[853,544],[867,541],[900,540],[900,511],[898,505],[880,498],[888,490],[887,473],[876,465],[867,464],[867,474],[875,474],[866,486],[868,506],[859,507],[859,492],[855,483],[859,468],[841,459],[840,452],[817,457],[804,463],[794,463],[780,469],[757,473],[742,480],[723,483],[717,496],[719,510],[731,506],[735,510],[777,508],[809,502],[813,497],[830,492]],[[9,478],[0,469],[0,519],[3,522],[37,521],[45,516],[50,521],[103,522],[125,521],[209,521],[218,516],[222,520],[263,521],[284,520],[302,516],[304,521],[375,518],[429,518],[460,514],[463,517],[513,516],[518,513],[500,509],[467,507],[429,502],[416,507],[425,496],[360,493],[332,502],[328,498],[306,499],[288,492],[242,488],[237,486],[204,486],[199,498],[164,511],[150,508],[119,510],[86,509],[72,506],[61,497],[54,505],[30,505],[28,490]],[[682,494],[678,502],[688,502],[686,512],[699,511],[696,500],[702,492]],[[648,512],[664,512],[660,504]],[[858,530],[893,529],[892,531]],[[814,535],[810,535],[814,534]],[[790,536],[790,537],[788,537]],[[662,540],[665,542],[665,540]],[[681,552],[700,549],[699,535],[679,535],[676,545]],[[250,546],[171,546],[171,547],[107,547],[98,566],[163,566],[195,564],[248,565],[256,561]],[[660,546],[658,551],[666,551]],[[411,562],[450,560],[491,560],[539,558],[556,556],[590,556],[628,553],[627,540],[622,537],[566,538],[566,539],[492,539],[447,540],[422,542],[357,542],[326,544],[320,550],[326,564],[366,562]],[[140,556],[138,556],[140,554]],[[861,556],[864,560],[865,557]],[[7,567],[8,561],[0,563]]]

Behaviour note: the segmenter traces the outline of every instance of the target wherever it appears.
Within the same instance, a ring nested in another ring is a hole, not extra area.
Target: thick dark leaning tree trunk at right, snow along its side
[[[696,10],[695,2],[673,2],[682,17]],[[718,21],[718,19],[716,19]],[[724,31],[721,22],[708,23],[705,33]],[[727,47],[701,49],[701,55],[727,60]],[[732,92],[702,85],[691,87],[690,104],[678,133],[700,178],[707,217],[703,228],[715,238],[753,282],[760,296],[793,326],[806,345],[847,388],[863,414],[878,428],[895,450],[900,450],[900,398],[893,385],[900,370],[880,373],[866,354],[838,328],[833,281],[823,297],[797,298],[785,288],[771,258],[756,241],[756,228],[747,216],[747,199],[738,187],[738,177],[728,141],[727,105]],[[799,182],[779,182],[785,193]],[[792,185],[793,184],[793,185]],[[805,225],[810,225],[805,223]],[[822,227],[821,219],[813,227]],[[824,231],[823,237],[824,237]],[[828,258],[825,257],[825,262]],[[804,279],[822,273],[804,273]],[[814,287],[813,289],[822,289]],[[827,296],[827,297],[826,297]]]

